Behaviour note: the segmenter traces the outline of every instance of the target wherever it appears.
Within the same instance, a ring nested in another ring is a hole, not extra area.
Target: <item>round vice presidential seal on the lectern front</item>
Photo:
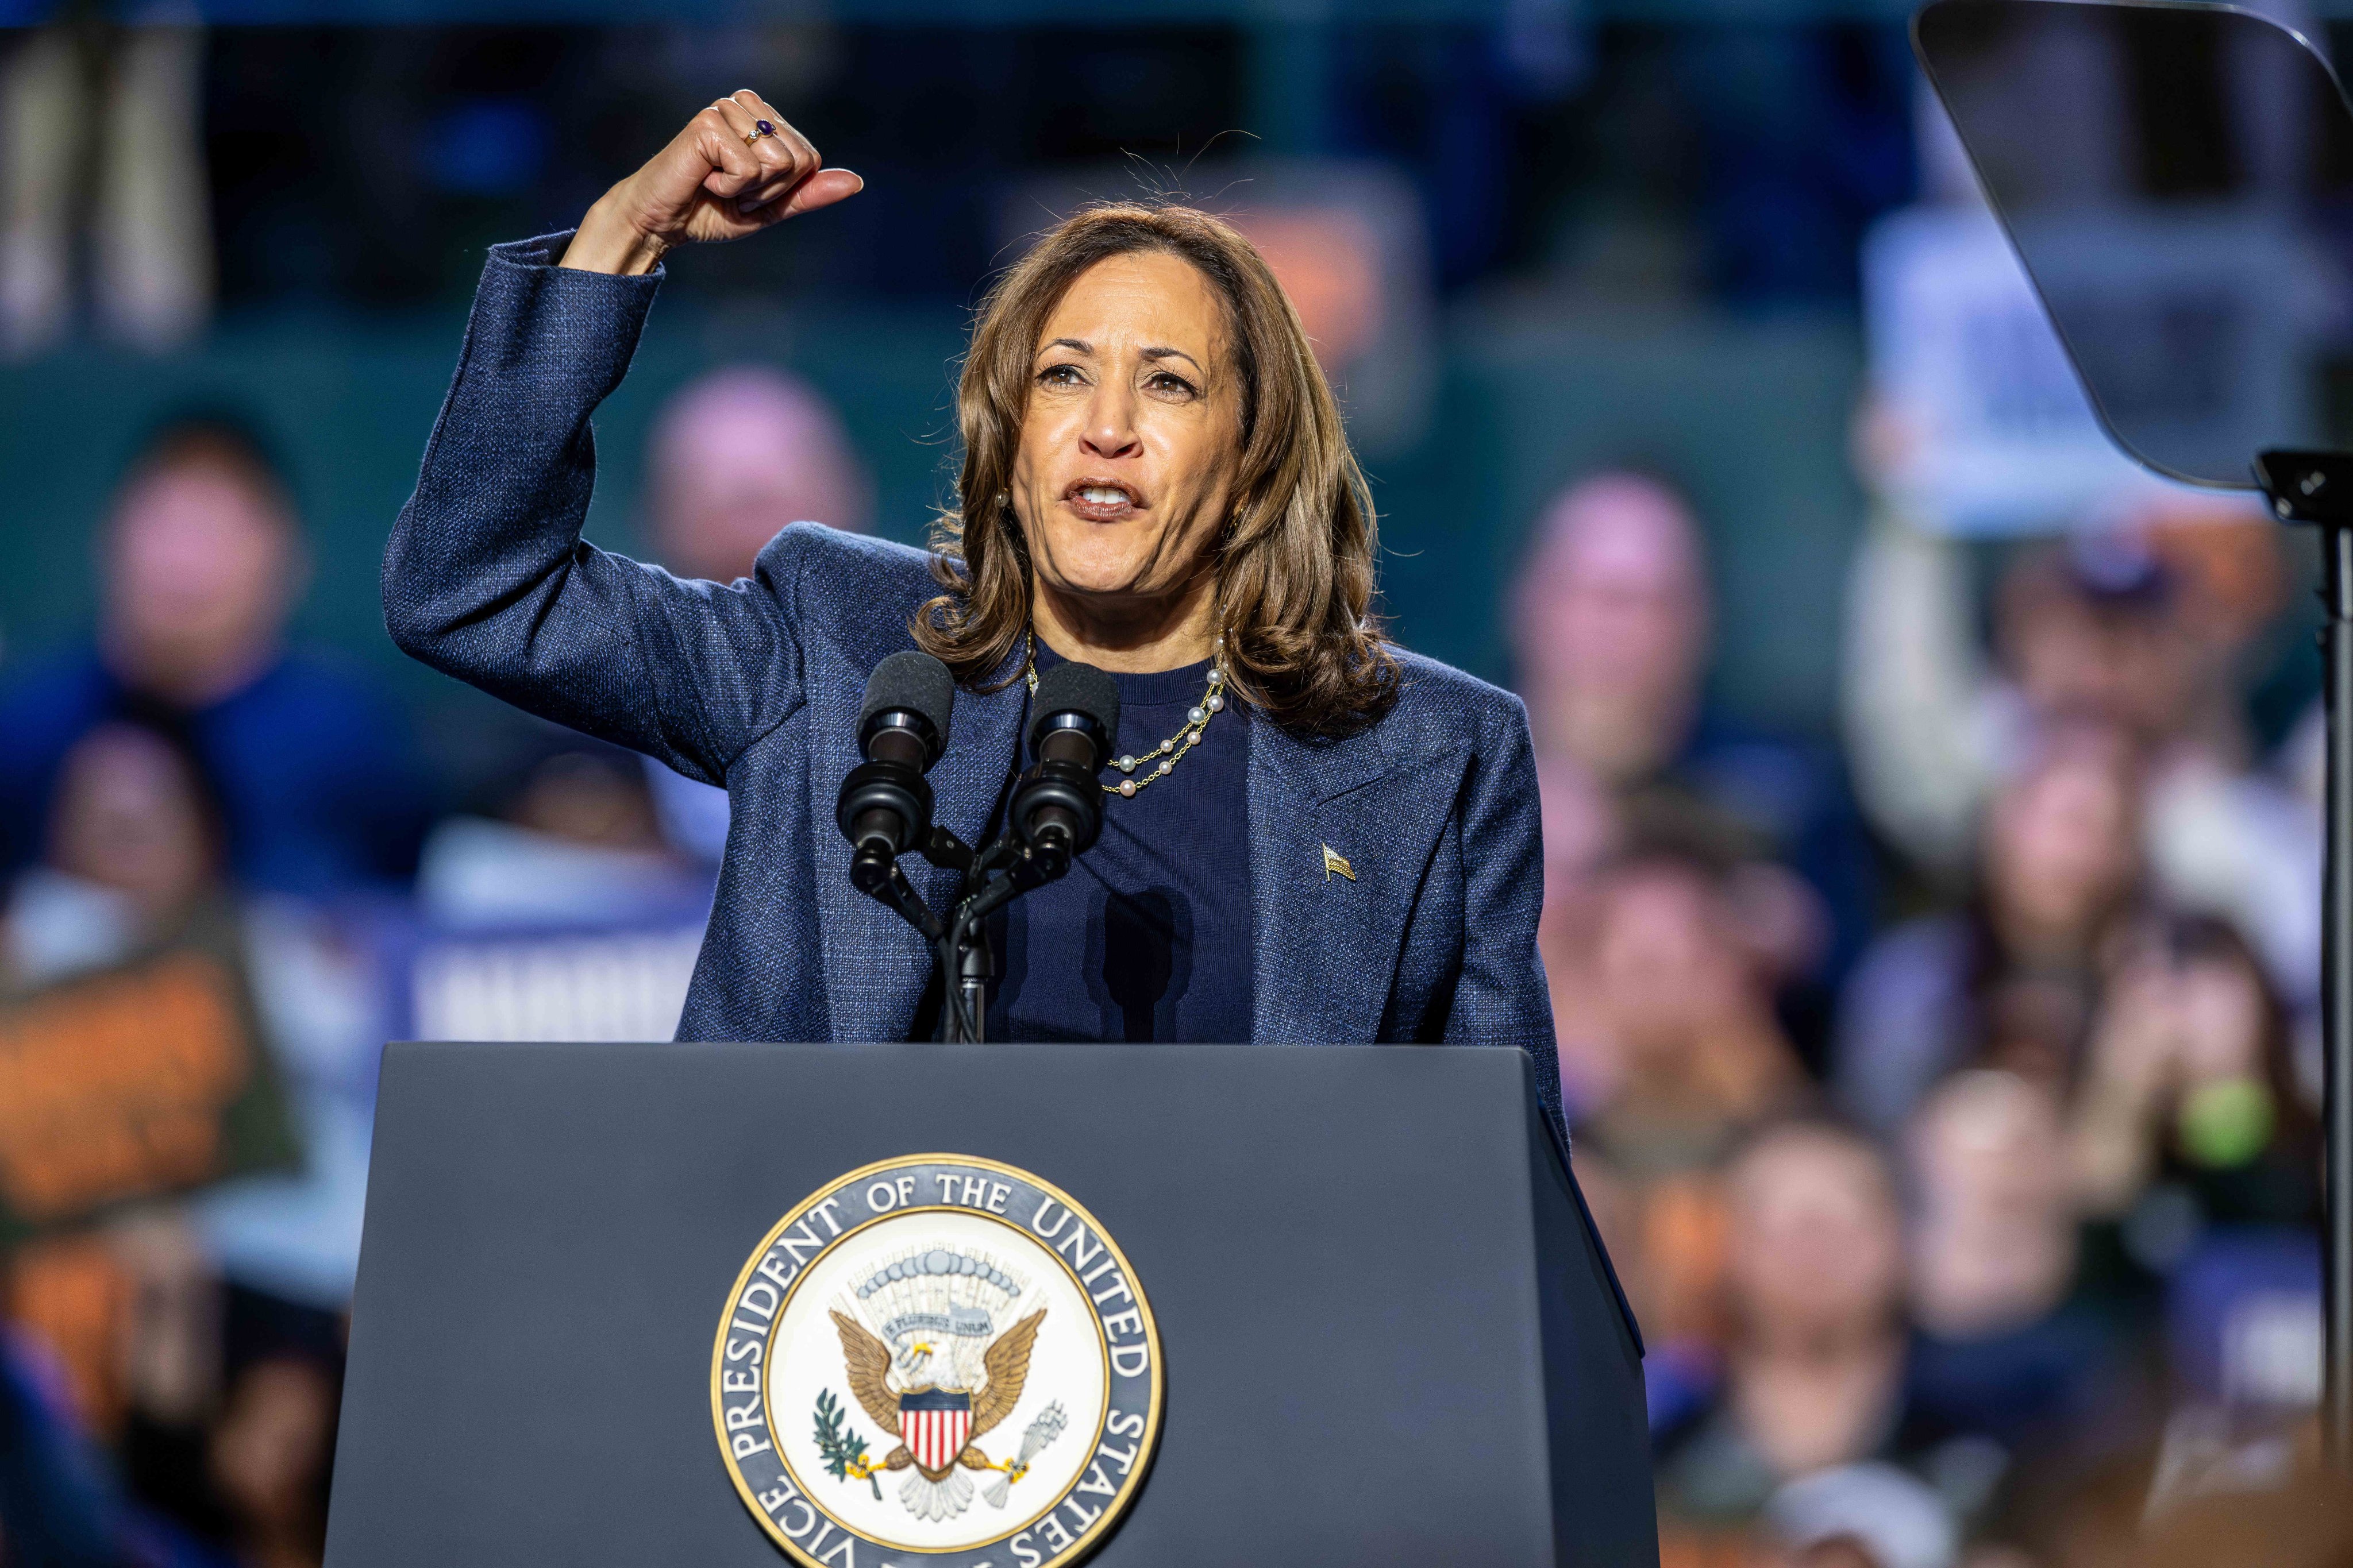
[[[965,1154],[802,1199],[711,1349],[727,1474],[809,1568],[1075,1563],[1144,1483],[1160,1399],[1160,1331],[1104,1227]]]

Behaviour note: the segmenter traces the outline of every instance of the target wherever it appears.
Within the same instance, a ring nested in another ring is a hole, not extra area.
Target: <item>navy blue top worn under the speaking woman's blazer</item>
[[[1056,663],[1038,649],[1040,670]],[[1184,729],[1209,663],[1113,679],[1120,750],[1141,757]],[[1167,778],[1104,797],[1104,837],[991,940],[991,1039],[1249,1039],[1249,722],[1231,696]]]

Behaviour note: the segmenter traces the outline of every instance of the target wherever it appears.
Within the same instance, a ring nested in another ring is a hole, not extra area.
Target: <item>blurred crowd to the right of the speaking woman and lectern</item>
[[[2266,757],[2245,710],[2275,531],[1986,552],[1882,505],[1845,757],[1708,710],[1701,538],[1593,475],[1513,607],[1668,1568],[2141,1561],[2275,1493],[2320,1389],[2313,726]]]

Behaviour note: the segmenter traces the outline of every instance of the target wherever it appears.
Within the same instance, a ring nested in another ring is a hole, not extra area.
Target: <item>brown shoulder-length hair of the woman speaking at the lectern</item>
[[[1136,252],[1191,261],[1226,306],[1242,388],[1233,510],[1212,545],[1228,682],[1285,729],[1362,729],[1398,689],[1372,611],[1372,494],[1282,284],[1231,223],[1193,207],[1089,207],[988,289],[955,388],[958,505],[932,529],[932,574],[946,592],[915,614],[915,644],[967,684],[1021,649],[1031,562],[1007,491],[1038,334],[1080,273]]]

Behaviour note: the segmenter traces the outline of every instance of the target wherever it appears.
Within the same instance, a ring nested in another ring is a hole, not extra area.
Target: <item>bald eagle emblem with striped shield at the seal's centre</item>
[[[955,1519],[972,1505],[965,1472],[995,1472],[984,1497],[1005,1507],[1009,1486],[1028,1474],[1066,1420],[1059,1403],[1047,1406],[1007,1462],[979,1446],[1012,1415],[1028,1385],[1045,1307],[1019,1314],[1024,1288],[986,1253],[934,1246],[882,1260],[859,1281],[856,1300],[835,1300],[831,1316],[849,1394],[899,1446],[875,1462],[845,1425],[840,1401],[824,1392],[816,1448],[826,1469],[852,1483],[868,1481],[878,1497],[882,1472],[911,1472],[896,1488],[899,1502],[932,1521]]]

